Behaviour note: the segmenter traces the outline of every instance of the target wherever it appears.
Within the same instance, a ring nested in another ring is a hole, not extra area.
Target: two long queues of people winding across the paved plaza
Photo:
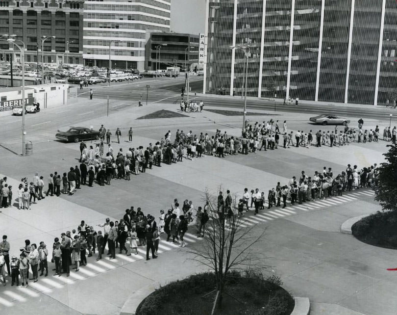
[[[70,167],[69,172],[64,172],[62,177],[61,172],[59,174],[58,172],[51,173],[47,179],[46,192],[44,177],[39,176],[38,173],[35,173],[33,181],[30,183],[26,178],[21,180],[18,187],[18,206],[19,209],[30,209],[31,204],[36,204],[36,199],[40,201],[48,196],[60,196],[61,193],[73,195],[76,189],[80,189],[82,185],[92,187],[95,180],[97,184],[102,186],[104,184],[110,185],[113,179],[130,180],[130,174],[138,175],[140,172],[145,172],[148,167],[151,169],[153,165],[160,167],[161,162],[166,164],[176,163],[182,161],[183,157],[194,159],[203,155],[224,157],[228,154],[248,154],[248,147],[250,152],[257,152],[257,149],[262,150],[263,148],[265,150],[274,149],[278,146],[278,139],[275,136],[278,134],[279,128],[278,121],[273,122],[271,120],[267,123],[263,122],[263,124],[255,123],[253,126],[247,126],[242,131],[241,137],[229,137],[226,132],[222,133],[220,130],[217,130],[215,135],[212,136],[202,132],[196,135],[192,131],[185,134],[183,131],[177,130],[174,141],[172,140],[172,132],[168,131],[154,145],[149,143],[146,150],[143,146],[139,146],[136,149],[129,148],[125,154],[122,149],[115,154],[109,139],[108,152],[105,156],[99,150],[99,145],[96,146],[95,150],[92,146],[87,150],[85,143],[81,142],[80,165]],[[286,121],[284,121],[282,128],[285,134],[292,134],[287,132]],[[105,135],[106,132],[102,134]],[[258,136],[260,135],[261,146],[259,147]],[[329,145],[332,146],[332,137],[327,137],[327,133],[325,135],[320,133],[320,140],[317,137],[317,144],[327,143],[328,138]],[[101,141],[103,140],[101,138]],[[284,140],[284,147],[293,144],[292,137],[291,139],[287,138],[287,140],[291,143]],[[295,134],[295,140],[297,146],[303,144],[310,146],[309,136],[306,138],[304,134],[302,136],[301,132],[298,133],[298,136],[297,133]],[[372,138],[369,141],[372,140],[377,141],[377,138],[376,140]],[[120,141],[120,135],[118,141]],[[282,207],[285,208],[287,199],[291,201],[291,205],[302,204],[336,194],[342,195],[342,192],[346,190],[371,187],[376,184],[378,184],[376,164],[361,169],[356,165],[351,167],[348,164],[346,171],[344,170],[336,176],[334,176],[331,168],[325,166],[322,172],[315,171],[312,176],[307,176],[302,171],[299,179],[294,176],[283,186],[277,183],[274,188],[269,190],[267,194],[268,209],[273,206],[281,207],[281,201]],[[12,187],[7,184],[6,177],[0,180],[0,191],[1,206],[11,206]],[[264,191],[259,192],[259,189],[256,188],[252,189],[249,194],[248,188],[245,188],[237,209],[234,209],[228,190],[224,199],[222,193],[218,196],[218,214],[222,219],[230,218],[233,215],[241,217],[244,208],[249,210],[252,207],[255,208],[254,213],[256,214],[260,209],[265,209],[265,201]],[[5,267],[8,275],[12,278],[12,285],[19,285],[18,275],[20,275],[23,286],[28,285],[28,280],[38,281],[38,271],[41,271],[41,276],[47,276],[49,273],[48,255],[52,255],[50,261],[55,265],[55,275],[60,276],[64,273],[69,276],[70,266],[74,265],[74,270],[78,272],[80,266],[87,263],[86,257],[94,256],[97,252],[97,260],[100,260],[106,245],[108,246],[109,259],[115,259],[116,248],[119,248],[119,254],[137,255],[139,246],[146,246],[147,260],[150,259],[150,252],[152,259],[155,259],[158,254],[161,234],[167,235],[167,241],[176,242],[184,247],[186,246],[184,235],[189,224],[195,221],[198,237],[203,237],[205,225],[210,220],[209,215],[208,204],[204,205],[203,208],[195,209],[192,201],[188,200],[183,202],[182,210],[180,210],[179,203],[175,199],[171,209],[167,212],[160,210],[158,220],[150,214],[144,215],[140,208],[135,211],[131,207],[125,210],[124,217],[120,219],[120,222],[106,219],[103,225],[99,225],[103,228],[103,233],[101,230],[95,231],[93,226],[81,221],[76,230],[62,233],[61,239],[55,237],[51,254],[43,241],[37,246],[36,243],[31,244],[30,240],[27,239],[25,245],[20,248],[20,256],[12,256],[11,260],[8,254],[10,244],[7,241],[7,236],[3,236],[3,242],[0,243],[0,276],[3,278],[2,283],[3,285],[6,284]],[[29,278],[29,267],[31,268],[32,278]]]

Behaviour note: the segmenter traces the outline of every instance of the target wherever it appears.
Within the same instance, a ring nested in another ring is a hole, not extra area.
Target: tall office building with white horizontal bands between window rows
[[[147,30],[170,31],[171,0],[87,0],[84,3],[84,64],[145,67]]]

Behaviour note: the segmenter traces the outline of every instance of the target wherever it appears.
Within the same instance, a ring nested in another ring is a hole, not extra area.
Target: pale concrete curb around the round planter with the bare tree
[[[149,294],[155,291],[153,285],[135,291],[124,303],[120,315],[135,315],[138,306]],[[307,297],[294,297],[295,307],[291,315],[309,315],[310,301]]]

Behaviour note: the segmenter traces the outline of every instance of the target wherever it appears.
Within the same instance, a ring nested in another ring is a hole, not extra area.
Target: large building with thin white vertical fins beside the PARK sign
[[[396,0],[207,1],[204,93],[384,105],[396,89]]]

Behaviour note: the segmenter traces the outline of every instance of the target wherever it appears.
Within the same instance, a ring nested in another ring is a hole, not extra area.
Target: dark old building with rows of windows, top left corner
[[[55,36],[44,42],[44,62],[82,63],[83,3],[79,0],[0,1],[0,34],[15,34],[25,43],[25,62],[41,62],[42,36]],[[69,43],[68,43],[69,42]],[[20,44],[20,42],[16,42]],[[21,61],[18,48],[0,41],[0,58]],[[11,52],[15,52],[14,54]]]

